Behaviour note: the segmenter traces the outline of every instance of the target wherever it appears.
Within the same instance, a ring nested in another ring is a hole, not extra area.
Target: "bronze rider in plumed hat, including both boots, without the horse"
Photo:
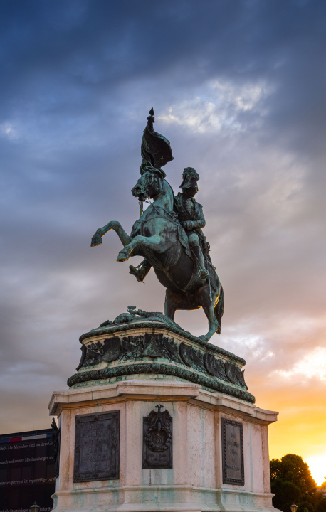
[[[197,181],[199,181],[199,174],[193,167],[186,167],[182,173],[182,184],[179,186],[179,188],[182,188],[182,193],[179,192],[175,197],[175,207],[179,223],[188,236],[189,246],[194,255],[199,277],[204,283],[209,272],[205,268],[203,250],[207,255],[208,244],[201,230],[205,226],[203,207],[194,200],[194,196],[198,192]],[[130,274],[135,275],[137,281],[142,282],[152,265],[145,259],[138,267],[130,265]]]

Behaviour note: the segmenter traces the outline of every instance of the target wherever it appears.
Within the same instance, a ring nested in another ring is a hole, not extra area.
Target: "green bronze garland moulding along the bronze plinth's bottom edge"
[[[115,378],[122,375],[142,375],[144,373],[157,373],[161,375],[172,375],[179,377],[189,382],[200,384],[209,388],[212,391],[219,391],[226,393],[233,397],[239,398],[240,400],[246,400],[246,402],[255,403],[255,397],[248,393],[248,391],[233,388],[230,385],[214,380],[213,378],[205,377],[199,373],[179,368],[177,366],[169,366],[164,363],[142,363],[142,364],[131,364],[125,366],[117,366],[114,368],[102,368],[101,370],[91,370],[81,373],[75,373],[68,378],[68,386],[71,387],[75,384],[89,382],[91,380],[101,380],[107,378]]]

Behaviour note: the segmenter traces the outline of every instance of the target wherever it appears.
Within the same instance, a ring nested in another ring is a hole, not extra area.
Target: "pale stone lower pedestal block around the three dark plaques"
[[[173,418],[173,469],[142,469],[143,417],[158,403]],[[54,392],[49,410],[61,429],[56,512],[273,509],[267,429],[277,412],[167,375]],[[120,479],[74,483],[76,415],[112,410],[120,410]],[[223,483],[222,418],[243,425],[243,486]]]

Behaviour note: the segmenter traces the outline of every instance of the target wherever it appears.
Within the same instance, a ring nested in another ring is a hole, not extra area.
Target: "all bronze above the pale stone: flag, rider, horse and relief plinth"
[[[144,257],[137,267],[130,265],[130,274],[142,282],[153,267],[167,289],[164,314],[129,306],[127,313],[80,336],[78,373],[68,379],[68,385],[127,375],[169,375],[254,403],[241,370],[246,361],[208,343],[214,333],[221,333],[224,291],[202,231],[206,223],[203,206],[194,199],[199,174],[193,167],[185,167],[179,187],[182,192],[174,195],[162,169],[172,161],[172,149],[169,141],[154,131],[154,122],[151,110],[142,137],[141,177],[132,188],[140,203],[140,218],[130,235],[119,222],[110,221],[96,230],[91,246],[100,245],[105,233],[114,230],[123,245],[118,262]],[[150,203],[146,210],[144,202]],[[196,338],[174,323],[174,314],[200,307],[209,331]]]

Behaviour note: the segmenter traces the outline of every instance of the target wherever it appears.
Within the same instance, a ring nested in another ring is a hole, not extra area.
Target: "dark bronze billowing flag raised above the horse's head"
[[[151,109],[149,117],[147,117],[144,134],[142,135],[142,165],[140,166],[140,174],[155,170],[159,171],[165,178],[166,174],[161,167],[173,160],[172,149],[169,141],[163,135],[154,132],[154,122],[154,110]]]

